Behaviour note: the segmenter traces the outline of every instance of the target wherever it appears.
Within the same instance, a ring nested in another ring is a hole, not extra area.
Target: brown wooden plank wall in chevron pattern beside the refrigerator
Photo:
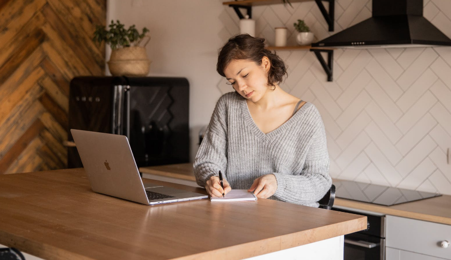
[[[104,75],[106,0],[0,0],[0,174],[67,167],[69,82]]]

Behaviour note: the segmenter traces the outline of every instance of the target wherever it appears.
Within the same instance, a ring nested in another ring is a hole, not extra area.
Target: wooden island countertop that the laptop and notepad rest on
[[[267,199],[142,205],[92,192],[83,169],[0,175],[0,205],[0,244],[45,259],[240,259],[366,228],[366,217]]]

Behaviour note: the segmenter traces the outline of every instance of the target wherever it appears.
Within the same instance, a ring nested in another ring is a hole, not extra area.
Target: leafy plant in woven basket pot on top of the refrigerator
[[[119,20],[108,26],[109,30],[103,26],[96,26],[93,41],[102,42],[111,46],[111,57],[108,61],[110,73],[113,76],[146,76],[149,73],[150,60],[144,48],[150,40],[147,35],[149,29],[144,27],[142,33],[136,30],[135,25],[125,29]],[[144,38],[148,40],[139,46]]]

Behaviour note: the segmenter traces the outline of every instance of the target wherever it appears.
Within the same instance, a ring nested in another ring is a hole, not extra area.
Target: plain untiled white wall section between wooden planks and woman
[[[128,28],[150,30],[146,46],[151,60],[149,76],[185,77],[190,82],[191,160],[198,148],[198,132],[210,121],[221,92],[216,83],[218,49],[223,27],[222,5],[211,0],[109,0],[107,24],[118,19]],[[107,51],[107,60],[109,52]]]

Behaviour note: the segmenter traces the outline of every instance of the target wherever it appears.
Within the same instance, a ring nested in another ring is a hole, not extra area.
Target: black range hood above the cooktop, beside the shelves
[[[373,0],[373,16],[313,47],[412,48],[451,46],[451,39],[423,17],[423,0]]]

